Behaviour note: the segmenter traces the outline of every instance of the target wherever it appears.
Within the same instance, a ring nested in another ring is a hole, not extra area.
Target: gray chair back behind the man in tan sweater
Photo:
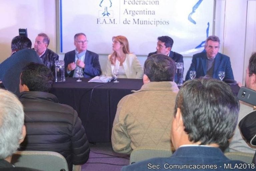
[[[155,157],[170,157],[171,155],[171,150],[137,148],[130,155],[130,164]]]

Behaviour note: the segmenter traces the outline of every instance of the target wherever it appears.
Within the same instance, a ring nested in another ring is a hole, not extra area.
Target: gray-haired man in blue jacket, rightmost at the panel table
[[[225,77],[223,80],[234,80],[230,58],[218,53],[219,48],[220,39],[217,36],[209,36],[205,41],[205,52],[193,55],[186,80],[190,79],[190,71],[196,71],[196,78],[207,75],[216,79],[219,79],[219,71],[224,71]]]

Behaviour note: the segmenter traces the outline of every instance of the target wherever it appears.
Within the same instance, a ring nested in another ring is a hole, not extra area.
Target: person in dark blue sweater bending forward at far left
[[[0,80],[4,87],[19,96],[20,72],[30,62],[42,63],[39,56],[31,48],[31,41],[26,36],[12,39],[12,55],[0,64]]]

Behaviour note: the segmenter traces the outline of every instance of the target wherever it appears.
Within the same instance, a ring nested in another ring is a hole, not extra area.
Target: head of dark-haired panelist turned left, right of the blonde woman
[[[172,49],[173,40],[169,36],[161,36],[157,38],[156,53],[168,55]]]

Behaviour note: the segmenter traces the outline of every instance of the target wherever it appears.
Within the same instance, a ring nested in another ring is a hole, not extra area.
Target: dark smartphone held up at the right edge
[[[256,91],[242,86],[237,94],[237,98],[243,102],[256,106]]]

